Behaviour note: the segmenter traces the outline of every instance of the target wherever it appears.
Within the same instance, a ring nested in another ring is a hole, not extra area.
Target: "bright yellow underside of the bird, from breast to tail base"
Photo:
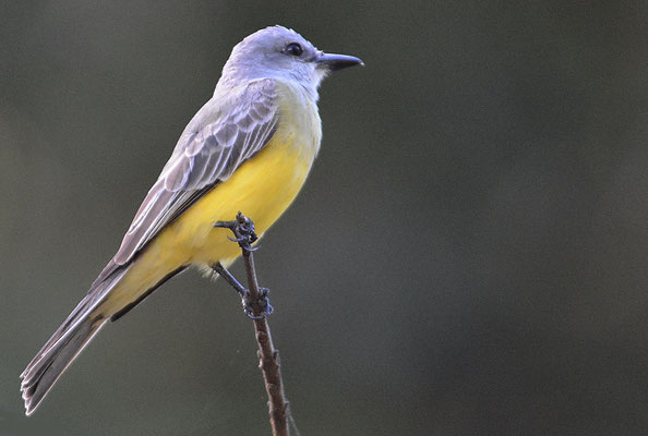
[[[278,137],[277,137],[278,136]],[[303,153],[292,133],[276,135],[227,181],[194,203],[166,227],[137,256],[100,312],[110,315],[190,264],[231,264],[241,254],[228,229],[215,228],[238,211],[254,221],[261,237],[290,206],[311,169],[314,154]]]

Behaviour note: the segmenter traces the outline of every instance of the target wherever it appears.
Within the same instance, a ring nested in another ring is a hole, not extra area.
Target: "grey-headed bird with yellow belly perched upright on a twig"
[[[21,375],[31,415],[81,351],[172,276],[229,266],[240,250],[216,222],[243,210],[262,237],[303,186],[322,140],[319,87],[363,65],[284,26],[237,44],[212,98],[191,119],[121,245]]]

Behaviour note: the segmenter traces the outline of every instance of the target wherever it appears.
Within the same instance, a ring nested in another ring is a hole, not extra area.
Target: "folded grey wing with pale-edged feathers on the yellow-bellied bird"
[[[207,101],[182,133],[105,272],[131,261],[165,226],[259,153],[276,132],[278,118],[271,80]]]

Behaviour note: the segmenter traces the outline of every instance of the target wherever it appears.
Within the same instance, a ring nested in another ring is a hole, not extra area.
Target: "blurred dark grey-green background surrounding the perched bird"
[[[367,63],[256,256],[302,434],[648,433],[645,2],[0,4],[0,435],[269,434],[252,323],[195,271],[29,419],[19,374],[272,24]]]

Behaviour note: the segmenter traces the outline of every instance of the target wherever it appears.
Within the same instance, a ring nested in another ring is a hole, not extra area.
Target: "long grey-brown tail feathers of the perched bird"
[[[34,412],[65,368],[109,319],[97,308],[127,270],[120,268],[105,280],[93,283],[87,295],[21,374],[27,415]]]

